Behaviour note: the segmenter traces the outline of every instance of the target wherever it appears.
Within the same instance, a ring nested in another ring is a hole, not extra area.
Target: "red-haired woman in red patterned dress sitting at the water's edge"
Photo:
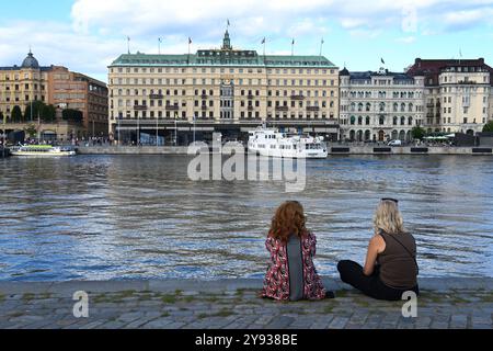
[[[271,263],[262,297],[278,301],[322,299],[326,293],[313,265],[317,239],[305,227],[303,207],[297,201],[282,204],[272,219],[265,246]]]

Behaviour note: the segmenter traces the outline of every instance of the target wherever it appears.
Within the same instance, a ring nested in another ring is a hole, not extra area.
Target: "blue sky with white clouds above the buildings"
[[[42,66],[107,81],[121,54],[219,47],[322,55],[339,67],[403,71],[421,58],[479,58],[493,66],[493,0],[0,0],[0,67],[30,47]],[[321,42],[323,38],[323,46]]]

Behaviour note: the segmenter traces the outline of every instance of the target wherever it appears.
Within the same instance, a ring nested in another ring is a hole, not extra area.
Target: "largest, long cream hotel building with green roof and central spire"
[[[108,132],[126,143],[159,135],[169,144],[176,134],[186,144],[213,132],[241,138],[263,123],[339,137],[337,67],[323,56],[233,49],[228,31],[219,49],[122,55],[108,82]]]

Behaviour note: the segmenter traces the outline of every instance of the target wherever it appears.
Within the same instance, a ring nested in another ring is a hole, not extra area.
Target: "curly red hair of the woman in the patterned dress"
[[[287,201],[276,210],[268,236],[283,242],[287,242],[291,235],[301,238],[307,231],[305,223],[303,206],[297,201]]]

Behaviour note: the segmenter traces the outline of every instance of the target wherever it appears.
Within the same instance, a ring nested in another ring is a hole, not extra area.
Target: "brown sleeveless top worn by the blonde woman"
[[[378,254],[380,280],[395,288],[412,288],[417,285],[416,242],[409,233],[388,234],[382,230],[380,236],[386,241],[386,249]]]

